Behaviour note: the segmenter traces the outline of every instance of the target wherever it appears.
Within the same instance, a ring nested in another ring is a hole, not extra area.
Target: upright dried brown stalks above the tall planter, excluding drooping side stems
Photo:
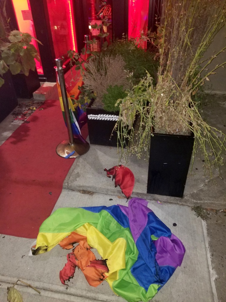
[[[226,46],[211,58],[202,61],[215,34],[225,25],[225,9],[226,5],[219,0],[165,2],[157,84],[157,90],[162,88],[163,92],[157,100],[156,131],[175,134],[189,132],[184,119],[190,119],[191,103],[196,107],[191,101],[192,96],[210,74],[225,64],[217,65],[213,70],[207,69]]]

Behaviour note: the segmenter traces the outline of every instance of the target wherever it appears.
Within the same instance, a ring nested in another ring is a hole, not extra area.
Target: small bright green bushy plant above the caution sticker
[[[106,111],[115,112],[119,110],[119,102],[117,102],[119,99],[123,99],[127,96],[127,93],[125,92],[123,85],[114,85],[109,86],[107,88],[107,92],[104,93],[102,102],[104,104],[104,109]],[[117,102],[117,105],[115,105]]]

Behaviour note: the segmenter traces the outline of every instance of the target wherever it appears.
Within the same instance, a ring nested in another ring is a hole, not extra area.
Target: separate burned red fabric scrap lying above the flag
[[[107,172],[108,177],[112,175],[112,181],[115,179],[115,188],[119,185],[126,198],[130,198],[135,183],[133,172],[123,165],[114,166],[109,170],[104,169],[104,171]]]

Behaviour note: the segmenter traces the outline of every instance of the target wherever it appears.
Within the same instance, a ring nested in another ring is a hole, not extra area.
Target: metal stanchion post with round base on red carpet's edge
[[[89,150],[89,143],[87,143],[86,141],[82,142],[81,140],[74,138],[71,128],[71,118],[70,118],[70,111],[69,111],[69,105],[67,100],[67,90],[64,80],[65,66],[63,66],[63,60],[61,58],[55,59],[55,62],[56,62],[55,70],[58,72],[61,95],[64,105],[67,132],[69,137],[69,140],[64,140],[57,146],[56,153],[64,158],[69,158],[69,157],[74,158],[85,154]]]

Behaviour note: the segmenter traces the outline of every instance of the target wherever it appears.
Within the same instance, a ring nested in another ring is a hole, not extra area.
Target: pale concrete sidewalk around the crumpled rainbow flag
[[[54,210],[59,207],[110,206],[125,204],[125,201],[109,194],[90,195],[63,190]],[[158,204],[156,201],[149,201],[148,206],[181,239],[186,248],[181,267],[176,269],[174,275],[156,294],[153,301],[215,302],[213,294],[215,288],[212,290],[209,255],[206,252],[205,223],[201,218],[197,218],[189,207],[168,203]],[[177,226],[174,227],[173,223]],[[59,271],[63,268],[69,251],[56,246],[45,254],[28,256],[32,242],[32,239],[3,235],[0,237],[1,302],[7,301],[7,286],[11,286],[17,279],[28,282],[41,291],[39,295],[23,284],[18,285],[16,288],[22,293],[24,302],[124,301],[111,291],[107,282],[103,282],[97,288],[90,287],[81,271],[78,270],[69,286],[64,286],[59,280]]]

